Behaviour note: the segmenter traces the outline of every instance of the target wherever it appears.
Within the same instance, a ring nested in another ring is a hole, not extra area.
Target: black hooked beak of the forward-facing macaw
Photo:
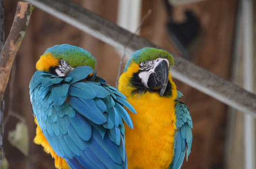
[[[150,74],[148,86],[154,90],[160,89],[160,97],[162,97],[166,91],[168,77],[169,67],[166,60],[163,60],[156,66],[154,73]]]

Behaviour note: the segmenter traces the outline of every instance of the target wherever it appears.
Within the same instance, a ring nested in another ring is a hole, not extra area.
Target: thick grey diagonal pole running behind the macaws
[[[131,32],[118,27],[116,24],[70,0],[26,1],[114,47],[122,49],[131,36]],[[131,54],[145,46],[160,48],[154,43],[134,35],[127,45],[127,53]],[[237,110],[256,117],[256,95],[179,56],[173,57],[175,65],[172,66],[171,71],[174,78]]]

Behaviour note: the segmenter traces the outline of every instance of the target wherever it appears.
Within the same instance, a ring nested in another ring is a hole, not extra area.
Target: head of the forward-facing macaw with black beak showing
[[[138,50],[127,61],[123,73],[126,78],[120,77],[120,87],[126,83],[134,94],[149,91],[166,96],[166,88],[171,92],[169,69],[173,64],[173,57],[166,51],[150,47]],[[128,82],[123,82],[125,79]]]

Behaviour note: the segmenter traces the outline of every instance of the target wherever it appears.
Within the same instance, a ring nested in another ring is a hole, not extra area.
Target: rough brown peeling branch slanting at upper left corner
[[[0,101],[8,84],[12,65],[25,36],[33,8],[28,2],[18,2],[10,34],[0,53]]]

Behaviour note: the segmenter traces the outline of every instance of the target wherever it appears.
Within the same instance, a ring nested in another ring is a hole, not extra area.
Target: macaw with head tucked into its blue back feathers
[[[48,48],[30,82],[37,124],[34,142],[59,169],[126,169],[124,124],[134,108],[117,89],[96,76],[91,54],[62,44]],[[122,121],[123,120],[123,121]]]

